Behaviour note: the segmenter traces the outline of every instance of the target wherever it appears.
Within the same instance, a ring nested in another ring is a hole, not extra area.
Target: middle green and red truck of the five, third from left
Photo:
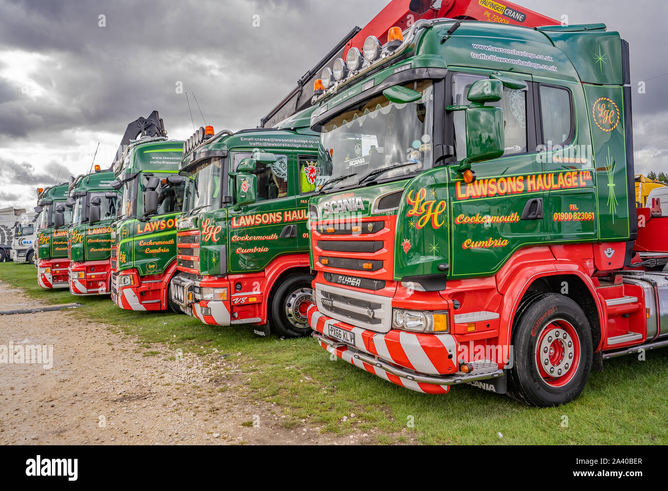
[[[130,123],[119,146],[111,186],[122,200],[112,224],[111,287],[122,309],[180,312],[169,284],[185,187],[182,154],[183,141],[167,139],[157,111]]]

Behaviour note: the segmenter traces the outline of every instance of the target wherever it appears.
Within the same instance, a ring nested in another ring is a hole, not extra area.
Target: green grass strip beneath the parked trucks
[[[0,280],[31,297],[51,304],[74,301],[69,291],[39,288],[36,274],[29,265],[0,264]],[[334,434],[373,434],[382,444],[668,444],[668,349],[649,351],[643,362],[635,355],[607,361],[578,399],[535,409],[468,385],[447,395],[415,393],[331,361],[310,338],[263,338],[248,326],[212,327],[185,315],[123,311],[108,297],[75,301],[83,307],[67,315],[136,335],[147,356],[154,351],[146,343],[162,342],[170,349],[217,349],[218,356],[239,359],[243,376],[216,390],[279,404],[287,415],[279,421],[288,428],[307,420]]]

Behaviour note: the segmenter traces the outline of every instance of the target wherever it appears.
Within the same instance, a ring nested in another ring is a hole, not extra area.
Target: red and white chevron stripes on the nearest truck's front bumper
[[[333,326],[354,333],[355,349],[379,357],[397,367],[426,375],[451,375],[457,371],[457,345],[450,334],[409,333],[395,329],[387,333],[377,333],[331,319],[317,311],[317,305],[309,307],[308,317],[311,329],[314,331],[327,336],[329,326]],[[353,358],[347,347],[333,348],[324,344],[323,347],[339,358],[402,387],[426,393],[448,391],[447,385],[418,383],[364,363]]]

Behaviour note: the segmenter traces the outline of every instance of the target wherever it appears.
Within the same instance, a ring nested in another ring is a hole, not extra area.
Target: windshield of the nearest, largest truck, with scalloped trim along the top
[[[357,184],[369,172],[390,166],[397,168],[379,172],[377,178],[400,179],[432,166],[434,86],[420,81],[405,87],[422,98],[397,104],[380,94],[323,124],[321,143],[332,157],[328,191]]]

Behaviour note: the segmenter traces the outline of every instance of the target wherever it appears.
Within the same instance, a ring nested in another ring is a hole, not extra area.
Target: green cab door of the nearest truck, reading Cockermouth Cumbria
[[[544,241],[544,182],[536,159],[531,76],[508,75],[526,81],[528,90],[504,88],[502,100],[493,104],[504,112],[503,156],[472,164],[476,180],[470,184],[457,172],[458,164],[449,167],[452,277],[491,275],[516,249]],[[454,73],[450,104],[468,104],[471,85],[488,76]],[[456,160],[461,162],[466,157],[464,111],[452,113],[452,126]]]

